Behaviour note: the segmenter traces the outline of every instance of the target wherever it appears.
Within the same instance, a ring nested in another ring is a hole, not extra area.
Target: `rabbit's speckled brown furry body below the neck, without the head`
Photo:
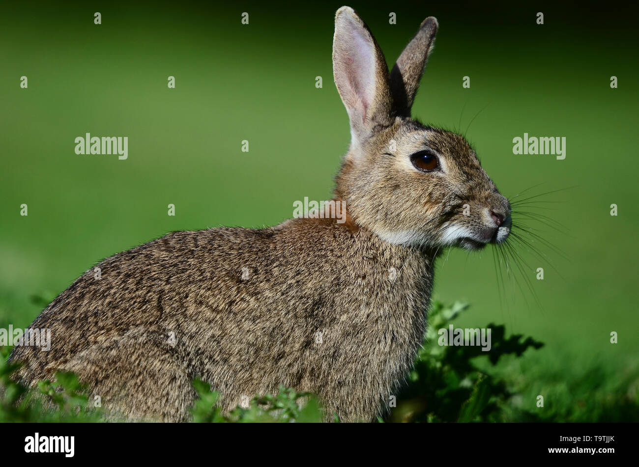
[[[431,264],[327,219],[174,232],[87,271],[31,326],[50,352],[12,359],[29,383],[75,371],[135,418],[187,419],[197,377],[224,408],[283,384],[369,419],[422,338]]]

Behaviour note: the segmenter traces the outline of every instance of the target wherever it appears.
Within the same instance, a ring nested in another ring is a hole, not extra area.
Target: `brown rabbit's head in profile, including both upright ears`
[[[437,27],[424,20],[389,73],[366,24],[348,6],[337,10],[333,70],[351,145],[336,195],[355,225],[385,241],[479,249],[508,236],[508,200],[465,138],[410,117]]]

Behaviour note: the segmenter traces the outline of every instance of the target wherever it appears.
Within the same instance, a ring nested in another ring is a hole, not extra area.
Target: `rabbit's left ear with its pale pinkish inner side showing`
[[[356,144],[394,121],[386,60],[364,21],[348,6],[335,14],[333,75]]]

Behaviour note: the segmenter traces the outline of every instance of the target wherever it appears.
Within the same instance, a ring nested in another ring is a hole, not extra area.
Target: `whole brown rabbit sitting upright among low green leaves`
[[[19,380],[73,371],[127,420],[190,420],[194,378],[225,413],[280,385],[316,394],[327,420],[387,413],[424,337],[441,249],[504,242],[512,224],[465,138],[410,117],[437,29],[424,20],[389,73],[355,11],[335,14],[344,221],[173,232],[106,258],[31,325],[50,329],[49,352],[14,348]]]

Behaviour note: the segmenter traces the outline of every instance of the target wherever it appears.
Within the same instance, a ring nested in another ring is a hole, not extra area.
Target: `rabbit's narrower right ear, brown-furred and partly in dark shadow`
[[[426,18],[390,71],[390,89],[397,113],[405,117],[410,117],[410,108],[413,107],[419,81],[426,68],[428,56],[433,51],[437,27],[435,18]]]

